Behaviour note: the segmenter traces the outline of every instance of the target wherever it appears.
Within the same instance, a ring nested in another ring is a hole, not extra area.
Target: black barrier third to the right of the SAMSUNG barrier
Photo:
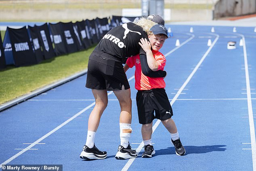
[[[62,31],[62,24],[49,23],[50,31],[52,33],[53,43],[54,43],[54,51],[56,56],[67,54],[67,46],[64,37],[64,33]]]

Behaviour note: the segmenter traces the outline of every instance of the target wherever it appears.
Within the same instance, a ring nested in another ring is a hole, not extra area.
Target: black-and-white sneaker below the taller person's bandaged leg
[[[124,148],[123,146],[118,146],[118,152],[115,155],[115,159],[130,159],[130,158],[135,158],[137,157],[137,152],[136,150],[132,150],[130,144],[128,144],[127,148]]]

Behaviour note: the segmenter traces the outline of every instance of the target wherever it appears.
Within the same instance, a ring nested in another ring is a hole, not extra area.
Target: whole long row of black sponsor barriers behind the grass
[[[0,68],[12,64],[36,64],[54,56],[88,49],[92,44],[97,44],[113,27],[133,22],[134,19],[139,17],[112,16],[112,19],[97,17],[76,23],[45,23],[41,26],[29,26],[28,30],[25,27],[8,27],[4,41],[0,42]]]

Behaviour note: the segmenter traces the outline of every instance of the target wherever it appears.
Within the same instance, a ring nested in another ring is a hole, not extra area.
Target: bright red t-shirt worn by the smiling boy
[[[164,55],[157,51],[152,51],[153,56],[155,57],[155,60],[158,63],[158,69],[157,70],[164,70],[164,66],[166,64],[166,58]],[[151,89],[160,89],[160,88],[165,88],[166,84],[164,82],[163,77],[158,77],[158,78],[152,78],[145,76],[142,71],[141,71],[141,61],[140,61],[140,56],[135,55],[126,61],[126,64],[132,68],[135,65],[135,89],[136,90],[151,90]]]

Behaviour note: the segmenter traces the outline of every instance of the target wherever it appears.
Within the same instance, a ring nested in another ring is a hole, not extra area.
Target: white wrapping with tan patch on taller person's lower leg
[[[124,148],[127,148],[129,144],[129,139],[131,137],[132,133],[132,127],[131,124],[125,124],[125,123],[120,123],[120,141],[121,141],[121,146]]]

